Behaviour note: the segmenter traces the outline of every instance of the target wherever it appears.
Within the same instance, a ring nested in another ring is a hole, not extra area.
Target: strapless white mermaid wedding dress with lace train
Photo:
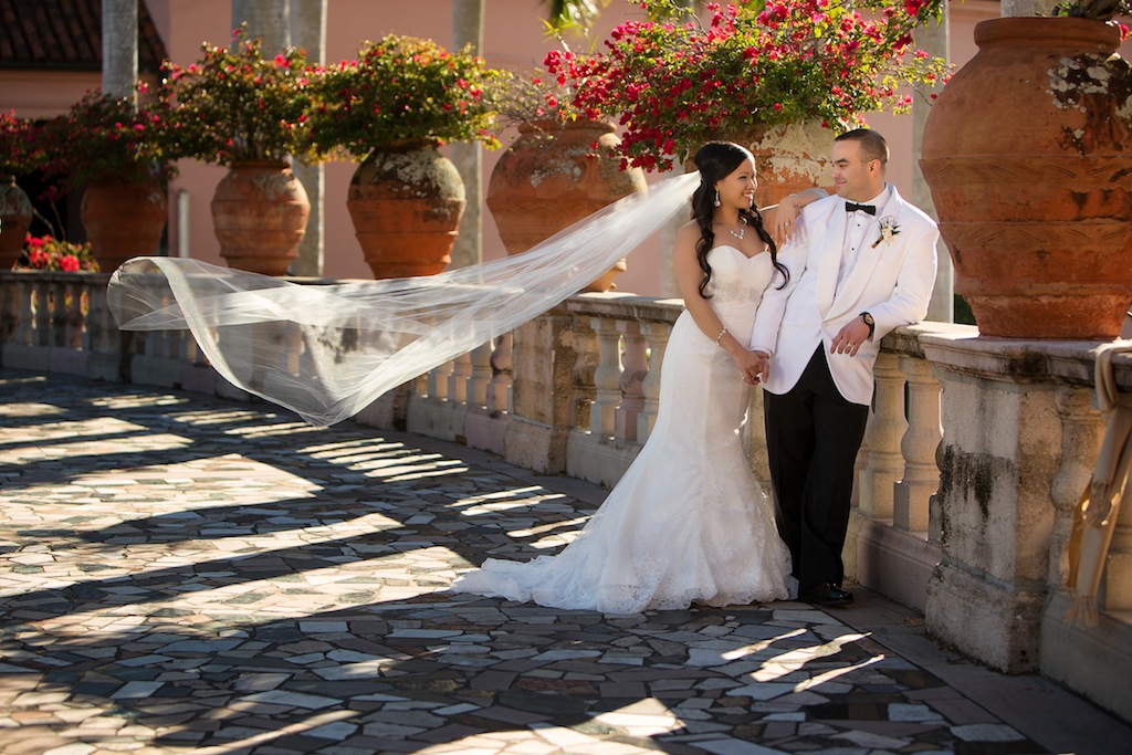
[[[769,254],[709,252],[711,304],[740,343],[773,267]],[[648,443],[569,544],[531,561],[488,559],[454,592],[634,614],[792,598],[790,555],[743,446],[749,387],[685,311],[664,352]]]

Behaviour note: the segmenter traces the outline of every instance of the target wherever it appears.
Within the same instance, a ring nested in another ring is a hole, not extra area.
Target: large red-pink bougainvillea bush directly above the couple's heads
[[[623,127],[623,166],[668,170],[710,139],[807,120],[829,128],[910,109],[906,85],[946,65],[915,48],[943,0],[769,0],[707,3],[686,18],[676,0],[643,0],[648,20],[615,28],[604,50],[550,52],[544,65],[588,118]]]

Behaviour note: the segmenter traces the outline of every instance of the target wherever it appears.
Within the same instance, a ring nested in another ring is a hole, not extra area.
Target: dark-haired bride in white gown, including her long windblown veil
[[[796,591],[790,557],[743,448],[745,379],[762,364],[746,346],[763,290],[786,276],[764,221],[784,229],[825,192],[800,192],[764,216],[752,207],[749,152],[711,143],[695,163],[697,172],[503,260],[311,286],[139,257],[114,272],[108,302],[121,329],[190,331],[233,385],[333,424],[566,299],[685,211],[692,194],[694,220],[674,249],[686,311],[664,354],[649,441],[561,552],[526,564],[489,559],[453,590],[608,612],[784,599]]]

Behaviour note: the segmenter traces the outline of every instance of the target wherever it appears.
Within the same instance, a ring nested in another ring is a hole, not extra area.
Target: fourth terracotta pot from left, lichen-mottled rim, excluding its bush
[[[375,149],[354,171],[346,209],[376,278],[436,275],[464,214],[460,171],[430,143]]]

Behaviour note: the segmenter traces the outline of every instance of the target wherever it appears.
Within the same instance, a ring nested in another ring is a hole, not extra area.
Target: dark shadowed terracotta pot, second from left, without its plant
[[[164,188],[156,181],[92,181],[83,191],[79,220],[103,273],[134,257],[157,254],[169,216]]]

